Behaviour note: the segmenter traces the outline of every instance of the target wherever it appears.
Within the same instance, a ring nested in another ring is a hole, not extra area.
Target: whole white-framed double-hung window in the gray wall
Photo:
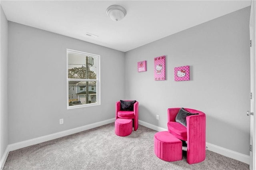
[[[100,104],[99,65],[100,55],[67,49],[68,109]]]

